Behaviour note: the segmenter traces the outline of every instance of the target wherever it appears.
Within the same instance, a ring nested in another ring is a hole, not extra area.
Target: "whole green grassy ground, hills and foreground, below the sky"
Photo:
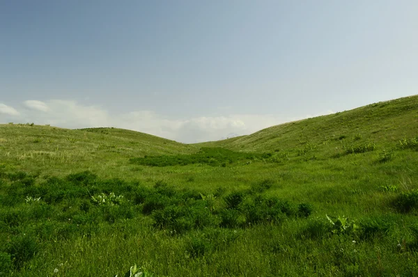
[[[418,96],[193,145],[0,125],[0,272],[414,276],[417,180]]]

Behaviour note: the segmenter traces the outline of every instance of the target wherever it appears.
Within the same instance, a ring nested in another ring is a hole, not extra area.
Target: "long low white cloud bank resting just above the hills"
[[[6,106],[6,105],[3,105]],[[302,119],[275,115],[232,114],[229,116],[200,116],[188,119],[167,118],[153,111],[129,111],[110,114],[100,106],[86,106],[75,101],[49,100],[24,102],[26,109],[20,122],[49,124],[64,128],[118,127],[132,129],[183,143],[216,141],[229,134],[251,134],[280,123]],[[0,104],[0,112],[1,110]],[[8,107],[8,106],[6,106]],[[15,109],[8,111],[15,111]],[[15,111],[15,115],[18,115]],[[324,113],[321,113],[324,114]]]

